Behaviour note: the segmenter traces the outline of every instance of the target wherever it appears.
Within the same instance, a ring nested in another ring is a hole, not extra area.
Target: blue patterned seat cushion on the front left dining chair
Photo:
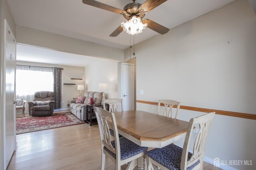
[[[129,139],[126,139],[125,137],[120,137],[119,141],[120,141],[121,160],[125,160],[132,156],[135,156],[148,149],[147,147],[140,147],[139,145],[137,145],[136,143],[133,143],[132,141],[130,141]],[[115,141],[111,141],[111,144],[113,148],[116,148]],[[104,147],[104,149],[116,159],[116,154],[108,150],[106,147]]]

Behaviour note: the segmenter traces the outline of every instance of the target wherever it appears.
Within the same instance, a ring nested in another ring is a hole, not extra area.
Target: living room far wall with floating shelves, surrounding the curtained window
[[[77,85],[84,85],[84,67],[78,66],[65,66],[65,65],[55,65],[55,64],[44,64],[44,63],[31,63],[17,61],[16,64],[20,65],[30,65],[30,66],[44,66],[44,67],[61,67],[62,70],[62,108],[69,108],[69,100],[77,98],[80,91],[77,90]],[[83,80],[71,80],[70,78],[82,78]],[[24,82],[26,83],[26,82]],[[64,83],[74,83],[76,85],[64,85]],[[84,91],[82,91],[82,94]]]

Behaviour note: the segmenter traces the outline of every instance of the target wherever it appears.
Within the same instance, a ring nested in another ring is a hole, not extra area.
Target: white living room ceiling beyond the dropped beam
[[[58,64],[68,66],[86,66],[100,59],[71,53],[64,53],[40,47],[17,44],[17,61],[27,61],[34,63]]]

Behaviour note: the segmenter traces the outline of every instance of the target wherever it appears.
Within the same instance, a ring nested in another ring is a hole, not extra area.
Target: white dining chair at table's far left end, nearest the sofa
[[[118,111],[118,104],[121,103],[121,110],[124,111],[123,108],[123,100],[122,99],[106,99],[103,100],[103,109],[106,109],[106,104],[109,104],[109,110],[110,112],[116,112]],[[114,131],[112,129],[109,129],[110,135],[114,137]],[[119,137],[122,137],[122,135],[118,134]]]

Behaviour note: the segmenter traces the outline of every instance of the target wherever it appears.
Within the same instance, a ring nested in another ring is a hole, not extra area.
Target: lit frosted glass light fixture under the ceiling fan
[[[142,33],[142,30],[148,26],[147,23],[143,24],[140,17],[133,16],[132,19],[121,23],[123,30],[131,35]]]

